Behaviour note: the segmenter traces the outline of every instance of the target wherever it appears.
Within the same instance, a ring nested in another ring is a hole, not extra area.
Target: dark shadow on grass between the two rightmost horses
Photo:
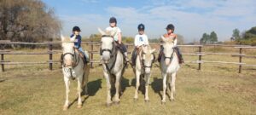
[[[160,91],[163,90],[162,82],[162,78],[154,78],[154,81],[151,83],[151,87],[154,90],[154,93],[157,93],[160,96],[160,98],[162,98],[162,95],[160,93]]]

